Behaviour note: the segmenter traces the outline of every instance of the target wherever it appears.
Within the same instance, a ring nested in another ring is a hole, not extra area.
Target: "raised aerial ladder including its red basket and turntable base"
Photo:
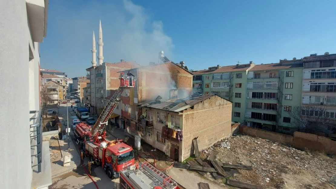
[[[112,98],[107,102],[106,106],[104,107],[103,111],[99,115],[96,123],[91,129],[91,137],[95,143],[103,142],[106,137],[106,126],[108,125],[109,118],[111,117],[113,111],[119,104],[120,96],[124,91],[125,87],[135,87],[136,77],[133,76],[125,76],[122,72],[119,76],[120,79],[120,87],[119,89],[113,94]]]

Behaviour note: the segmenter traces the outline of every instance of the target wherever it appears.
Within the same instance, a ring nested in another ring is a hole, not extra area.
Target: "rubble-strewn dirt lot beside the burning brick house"
[[[336,175],[336,158],[316,151],[301,151],[274,141],[235,135],[207,150],[216,150],[223,163],[252,166],[253,170],[231,179],[271,189],[336,189],[330,183]],[[216,180],[216,182],[223,182]]]

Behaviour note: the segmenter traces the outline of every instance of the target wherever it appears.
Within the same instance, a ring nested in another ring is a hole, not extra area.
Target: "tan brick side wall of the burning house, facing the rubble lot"
[[[192,140],[197,138],[199,150],[231,136],[232,103],[212,96],[183,111],[183,159],[194,154]]]

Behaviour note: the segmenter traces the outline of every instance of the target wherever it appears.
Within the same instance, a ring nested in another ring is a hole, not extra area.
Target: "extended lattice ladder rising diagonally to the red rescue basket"
[[[129,82],[129,80],[134,80],[135,77],[130,77],[130,76],[120,76],[119,79],[123,79],[125,82]],[[122,83],[122,82],[121,82]],[[135,87],[135,86],[120,86],[119,89],[114,93],[112,98],[107,102],[106,106],[104,107],[103,111],[99,115],[96,123],[94,124],[93,128],[91,129],[92,136],[95,136],[97,133],[99,135],[102,135],[102,133],[105,131],[106,126],[109,122],[109,118],[111,117],[113,111],[116,109],[116,107],[119,104],[120,101],[120,96],[122,92],[124,91],[125,87]]]

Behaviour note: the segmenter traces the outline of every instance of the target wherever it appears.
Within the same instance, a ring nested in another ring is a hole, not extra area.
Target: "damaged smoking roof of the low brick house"
[[[212,96],[217,96],[217,95],[203,94],[197,97],[187,97],[187,98],[182,98],[182,99],[172,99],[172,100],[167,100],[167,101],[161,101],[160,103],[156,103],[156,101],[143,102],[143,103],[138,104],[138,107],[151,107],[151,108],[162,109],[166,111],[180,112],[198,103],[201,103],[204,100],[209,99]]]

